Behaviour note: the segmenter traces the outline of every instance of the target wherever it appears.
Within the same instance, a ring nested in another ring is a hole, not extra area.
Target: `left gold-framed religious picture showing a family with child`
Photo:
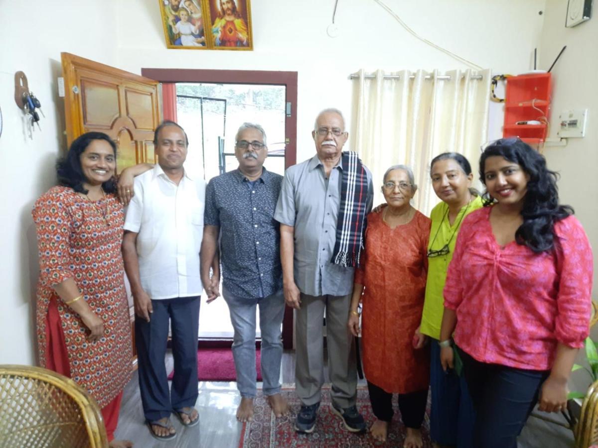
[[[206,8],[201,0],[158,0],[167,48],[206,50]],[[209,29],[209,27],[208,27]]]

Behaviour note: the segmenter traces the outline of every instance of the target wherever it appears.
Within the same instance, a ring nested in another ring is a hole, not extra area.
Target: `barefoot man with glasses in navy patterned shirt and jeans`
[[[244,123],[237,131],[234,154],[239,168],[210,180],[202,241],[202,280],[211,301],[219,278],[210,265],[220,249],[222,296],[234,327],[233,357],[241,403],[237,420],[251,421],[255,387],[255,312],[260,307],[261,372],[274,415],[288,412],[280,395],[280,326],[285,311],[280,266],[280,230],[274,220],[282,176],[263,167],[268,155],[266,133]]]

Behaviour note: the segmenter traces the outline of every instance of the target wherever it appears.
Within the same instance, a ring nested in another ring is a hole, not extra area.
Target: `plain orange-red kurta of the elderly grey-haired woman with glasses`
[[[355,271],[362,297],[362,346],[365,377],[386,392],[428,389],[430,355],[413,348],[422,320],[431,221],[419,211],[391,229],[382,213],[368,215],[365,253]]]

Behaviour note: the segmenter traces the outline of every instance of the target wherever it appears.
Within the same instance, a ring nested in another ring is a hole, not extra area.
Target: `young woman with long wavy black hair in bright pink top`
[[[444,287],[441,363],[454,343],[477,412],[474,446],[517,446],[533,406],[559,412],[589,333],[593,258],[557,175],[520,139],[480,158],[487,205],[469,214]]]

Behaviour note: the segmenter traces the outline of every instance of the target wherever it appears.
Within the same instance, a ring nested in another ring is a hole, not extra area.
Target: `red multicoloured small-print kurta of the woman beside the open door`
[[[33,207],[38,250],[37,332],[39,361],[47,366],[46,320],[56,300],[71,378],[106,406],[129,382],[132,341],[124,289],[123,206],[114,195],[90,202],[71,188],[56,186]],[[90,343],[89,330],[52,288],[74,278],[83,299],[103,321],[105,335]]]

